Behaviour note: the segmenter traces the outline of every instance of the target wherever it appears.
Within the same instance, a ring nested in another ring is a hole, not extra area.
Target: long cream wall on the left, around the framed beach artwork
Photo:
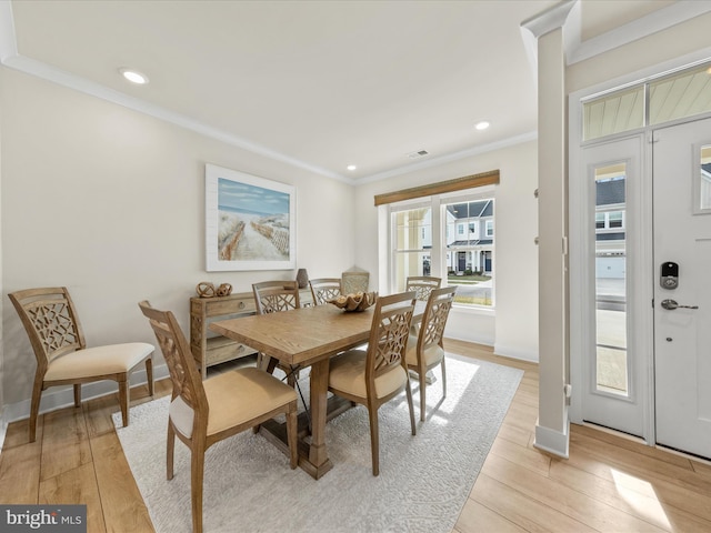
[[[3,303],[16,290],[67,285],[88,344],[154,344],[142,299],[176,312],[189,335],[200,281],[242,292],[293,279],[296,271],[204,271],[206,162],[297,187],[297,265],[312,278],[354,263],[351,185],[13,70],[0,80]],[[34,356],[12,305],[3,325],[12,404],[30,398]]]

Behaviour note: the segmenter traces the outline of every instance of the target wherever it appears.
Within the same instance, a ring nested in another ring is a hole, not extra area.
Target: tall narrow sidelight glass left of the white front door
[[[625,164],[594,170],[595,388],[627,395]]]

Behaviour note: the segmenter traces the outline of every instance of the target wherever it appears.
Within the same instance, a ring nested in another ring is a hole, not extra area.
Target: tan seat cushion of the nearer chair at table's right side
[[[375,395],[383,398],[404,386],[407,373],[401,365],[375,379]],[[329,388],[365,399],[365,352],[350,350],[331,360],[329,368]]]

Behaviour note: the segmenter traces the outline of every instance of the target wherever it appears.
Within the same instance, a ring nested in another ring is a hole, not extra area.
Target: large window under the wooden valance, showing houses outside
[[[442,285],[459,285],[458,305],[493,308],[493,189],[483,194],[470,190],[390,204],[393,292],[403,291],[410,275],[434,275]]]

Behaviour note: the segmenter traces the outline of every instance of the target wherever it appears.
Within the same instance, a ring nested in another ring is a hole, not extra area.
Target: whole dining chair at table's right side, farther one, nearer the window
[[[427,302],[418,335],[411,334],[408,340],[405,362],[409,370],[417,372],[420,381],[420,420],[422,422],[424,422],[427,412],[425,375],[438,364],[442,366],[442,400],[447,398],[447,370],[442,336],[455,292],[457,286],[433,290]]]

